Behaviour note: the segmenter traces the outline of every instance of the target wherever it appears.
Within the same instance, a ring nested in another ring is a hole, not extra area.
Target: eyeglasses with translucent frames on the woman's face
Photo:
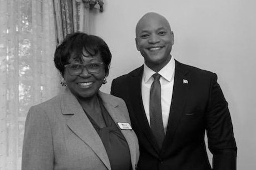
[[[68,69],[70,75],[80,75],[86,68],[89,74],[98,74],[103,70],[103,62],[92,62],[87,64],[67,64],[64,67]]]

